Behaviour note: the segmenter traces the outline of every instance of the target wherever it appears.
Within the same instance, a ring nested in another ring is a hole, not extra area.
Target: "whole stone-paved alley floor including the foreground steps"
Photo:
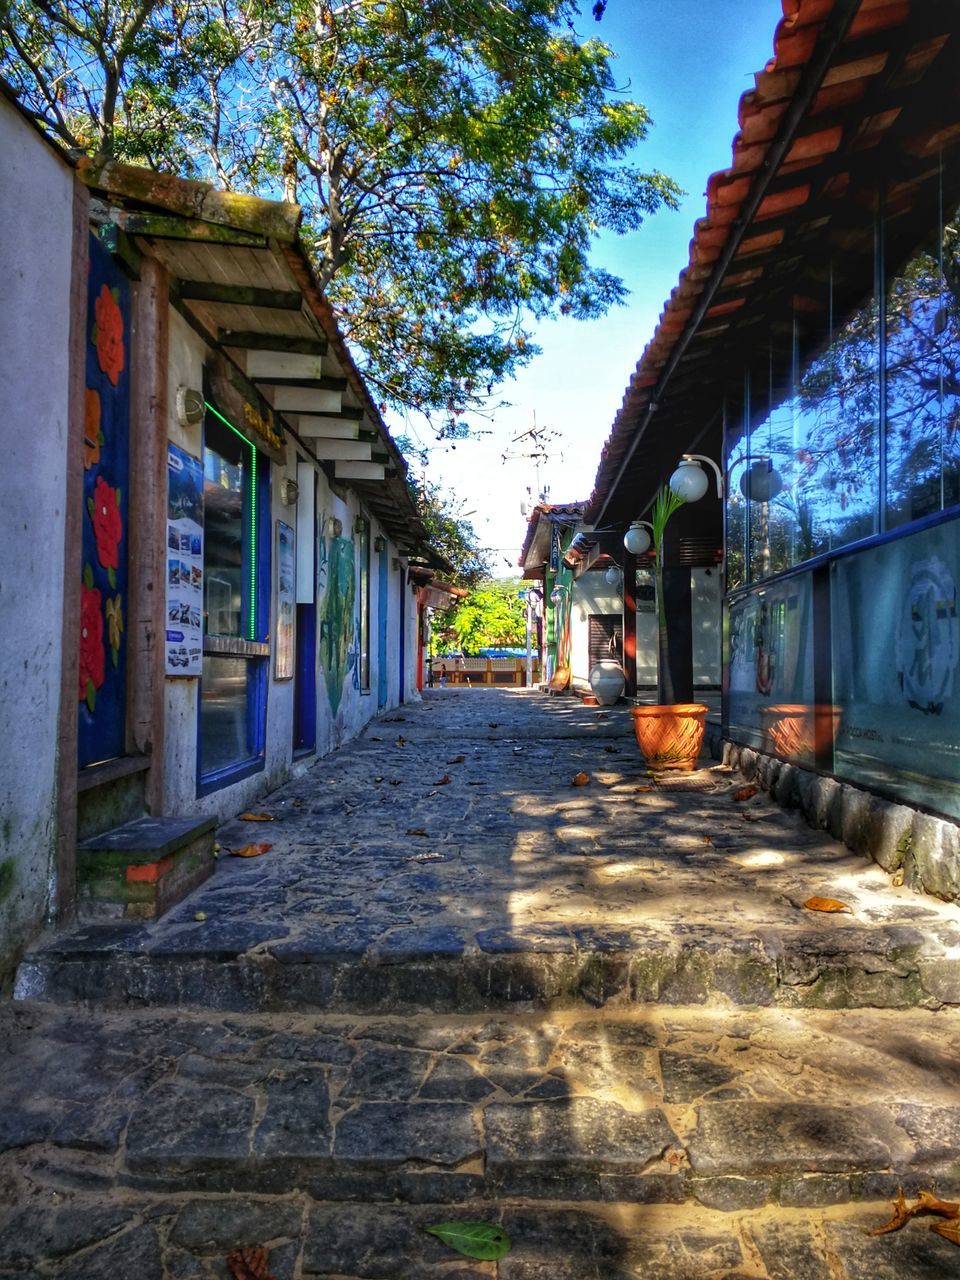
[[[440,690],[166,918],[44,940],[0,1007],[0,1280],[255,1244],[275,1280],[960,1276],[928,1220],[864,1230],[960,1197],[957,909],[741,787],[648,776],[625,709]]]

